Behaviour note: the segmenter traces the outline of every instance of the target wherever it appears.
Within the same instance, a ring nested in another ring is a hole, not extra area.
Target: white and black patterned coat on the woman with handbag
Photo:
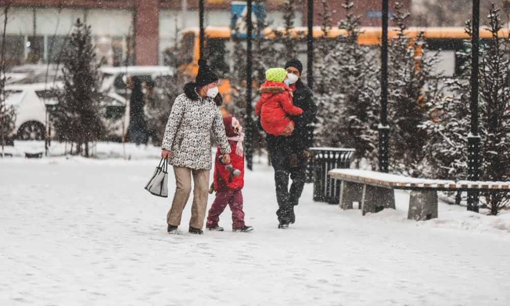
[[[175,99],[163,137],[162,148],[170,151],[168,163],[174,167],[211,169],[211,130],[221,152],[230,153],[223,116],[213,98],[202,99],[194,89],[191,92],[185,87],[185,93]]]

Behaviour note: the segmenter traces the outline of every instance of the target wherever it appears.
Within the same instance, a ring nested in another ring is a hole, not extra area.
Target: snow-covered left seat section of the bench
[[[457,188],[453,181],[418,179],[416,177],[407,177],[398,174],[382,173],[370,170],[333,169],[329,171],[329,175],[335,179],[351,179],[394,187]]]

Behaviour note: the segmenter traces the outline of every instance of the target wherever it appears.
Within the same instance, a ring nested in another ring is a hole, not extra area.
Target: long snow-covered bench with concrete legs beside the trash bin
[[[394,189],[411,190],[408,219],[428,220],[438,217],[437,191],[468,191],[486,189],[510,191],[510,182],[471,182],[417,179],[403,175],[359,169],[333,169],[333,179],[341,180],[340,207],[352,209],[352,202],[361,203],[363,215],[384,208],[395,209]]]

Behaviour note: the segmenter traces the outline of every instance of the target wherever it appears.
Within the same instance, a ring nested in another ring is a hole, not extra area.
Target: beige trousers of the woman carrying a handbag
[[[166,223],[174,226],[181,225],[183,210],[191,193],[191,175],[193,175],[194,188],[190,226],[200,229],[203,227],[203,220],[206,218],[207,197],[209,195],[209,171],[173,167],[176,186],[172,207],[166,215]]]

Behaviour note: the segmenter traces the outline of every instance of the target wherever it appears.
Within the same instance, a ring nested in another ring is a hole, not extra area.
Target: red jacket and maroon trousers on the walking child
[[[236,137],[232,126],[232,115],[223,117],[225,125],[226,137]],[[244,186],[244,156],[236,154],[237,142],[228,140],[228,144],[232,149],[230,154],[230,164],[235,169],[241,171],[239,176],[233,176],[225,168],[221,162],[223,155],[218,147],[214,163],[214,189],[216,190],[216,198],[214,199],[209,214],[207,216],[206,227],[218,226],[219,215],[225,210],[226,206],[230,206],[232,211],[232,229],[244,226],[243,212],[243,194],[241,189]]]

